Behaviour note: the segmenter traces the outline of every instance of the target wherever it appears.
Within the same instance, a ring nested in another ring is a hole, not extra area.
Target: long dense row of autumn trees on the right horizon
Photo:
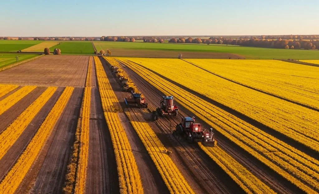
[[[200,39],[191,37],[185,39],[184,37],[171,38],[169,43],[204,43],[204,44],[231,44],[231,45],[241,45],[241,46],[254,46],[254,47],[264,47],[264,48],[280,48],[280,49],[312,49],[315,50],[319,48],[319,40],[283,40],[281,38],[277,40],[269,39],[232,39],[223,37],[210,37],[209,39]]]

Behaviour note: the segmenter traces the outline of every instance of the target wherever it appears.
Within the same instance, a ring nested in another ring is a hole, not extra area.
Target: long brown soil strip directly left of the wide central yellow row
[[[104,119],[94,60],[92,59],[89,158],[86,172],[86,193],[118,193],[115,154]]]

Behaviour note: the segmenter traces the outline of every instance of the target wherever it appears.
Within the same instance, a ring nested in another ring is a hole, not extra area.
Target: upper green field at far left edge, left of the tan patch
[[[17,52],[39,44],[41,40],[0,40],[0,52]]]

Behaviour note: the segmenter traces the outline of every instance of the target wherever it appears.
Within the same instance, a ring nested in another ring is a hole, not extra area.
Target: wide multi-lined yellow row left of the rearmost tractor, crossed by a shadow
[[[111,135],[121,193],[143,193],[141,177],[133,156],[129,140],[120,123],[117,113],[122,108],[108,81],[104,68],[98,57],[94,57],[96,76],[100,91],[104,117]]]

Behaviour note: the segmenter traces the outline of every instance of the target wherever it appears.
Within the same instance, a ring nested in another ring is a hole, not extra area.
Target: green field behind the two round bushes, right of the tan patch
[[[61,49],[61,54],[93,54],[94,49],[92,42],[88,41],[70,41],[62,42],[59,45],[50,48],[50,52],[53,52],[55,48]]]

